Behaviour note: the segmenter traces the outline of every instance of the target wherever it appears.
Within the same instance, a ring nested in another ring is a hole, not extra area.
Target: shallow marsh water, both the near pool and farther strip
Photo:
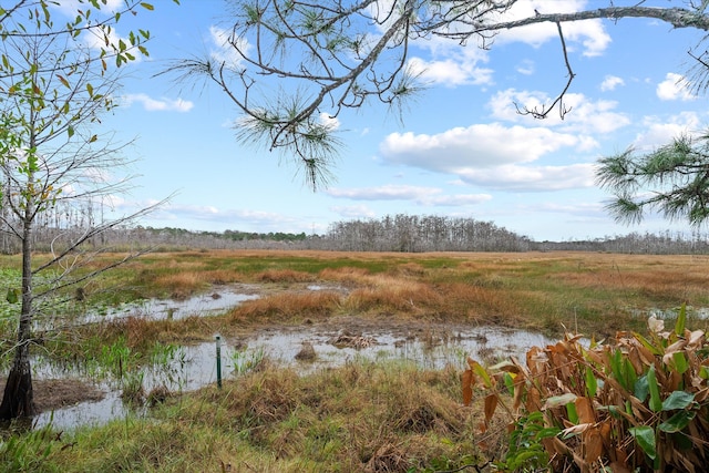
[[[312,286],[308,289],[321,290],[322,287]],[[179,318],[195,313],[208,316],[256,297],[258,296],[253,291],[242,294],[234,288],[223,288],[218,295],[198,296],[183,301],[152,300],[101,315],[91,313],[85,321],[136,315],[153,319]],[[219,364],[223,379],[238,377],[264,358],[278,366],[291,367],[304,374],[363,360],[407,360],[425,369],[442,369],[452,364],[463,370],[469,356],[479,360],[495,360],[508,356],[523,358],[531,347],[552,342],[554,340],[538,333],[500,327],[425,323],[415,328],[399,326],[395,329],[374,329],[371,326],[358,328],[348,321],[338,327],[336,320],[327,326],[266,329],[247,338],[220,339]],[[305,357],[304,353],[308,356]],[[215,341],[181,347],[166,366],[147,367],[137,376],[142,379],[145,392],[162,387],[173,392],[191,391],[216,383],[216,337]],[[34,378],[40,380],[85,377],[37,360]],[[56,429],[65,430],[81,424],[142,414],[142,411],[135,412],[121,399],[122,382],[126,381],[111,380],[97,383],[97,388],[105,392],[101,401],[81,402],[54,412],[44,412],[38,415],[35,423],[47,425],[51,422]]]

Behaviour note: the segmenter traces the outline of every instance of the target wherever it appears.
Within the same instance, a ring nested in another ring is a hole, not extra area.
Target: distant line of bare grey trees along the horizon
[[[103,206],[91,200],[56,204],[38,220],[33,234],[38,251],[56,250],[63,240],[101,224]],[[16,254],[20,244],[10,232],[12,216],[0,207],[0,251]],[[709,254],[709,236],[691,234],[630,233],[595,239],[534,241],[492,222],[434,215],[397,214],[379,219],[336,222],[322,235],[285,232],[198,232],[184,228],[116,226],[89,241],[104,249],[320,249],[336,251],[608,251],[629,254]]]

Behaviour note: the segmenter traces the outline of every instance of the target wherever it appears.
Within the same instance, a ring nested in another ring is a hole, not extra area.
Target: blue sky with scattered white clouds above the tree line
[[[237,142],[238,112],[216,88],[154,76],[178,58],[228,53],[225,2],[154,3],[154,12],[135,19],[151,31],[151,56],[127,68],[121,106],[103,121],[135,138],[130,153],[138,177],[115,200],[119,209],[176,193],[143,225],[321,234],[333,222],[402,213],[494,222],[535,240],[688,229],[653,216],[637,226],[615,224],[604,210],[609,195],[594,185],[594,165],[630,145],[650,151],[707,127],[706,96],[679,83],[698,31],[647,19],[565,24],[576,79],[566,96],[573,111],[563,121],[514,109],[548,102],[565,84],[555,25],[505,32],[490,51],[415,42],[411,60],[428,90],[403,122],[379,104],[340,115],[337,179],[314,193],[287,156]],[[600,6],[606,2],[520,1],[514,14]]]

